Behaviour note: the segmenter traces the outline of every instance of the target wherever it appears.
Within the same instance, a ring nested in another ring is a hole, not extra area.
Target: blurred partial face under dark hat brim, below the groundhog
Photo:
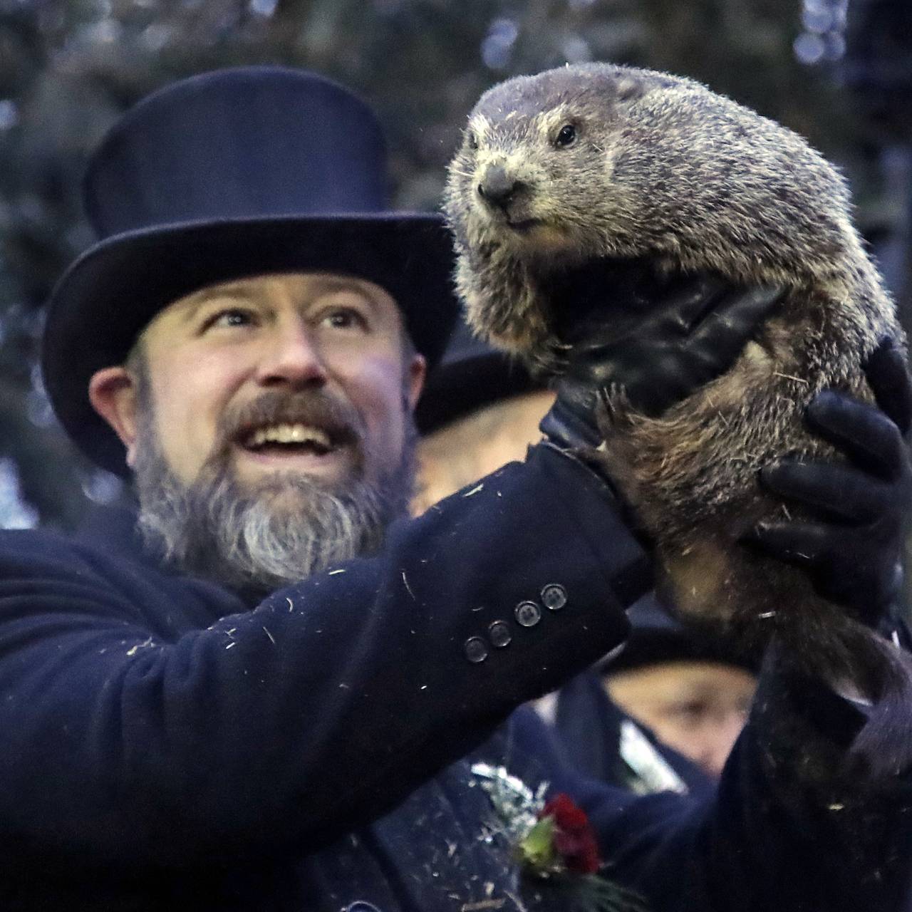
[[[663,662],[609,675],[608,696],[669,747],[719,776],[744,726],[756,681],[715,662]]]

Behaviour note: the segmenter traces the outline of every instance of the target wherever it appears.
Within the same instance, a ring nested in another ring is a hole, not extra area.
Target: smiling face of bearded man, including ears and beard
[[[90,395],[127,446],[147,541],[268,589],[376,550],[405,511],[423,376],[382,288],[265,275],[166,307]]]

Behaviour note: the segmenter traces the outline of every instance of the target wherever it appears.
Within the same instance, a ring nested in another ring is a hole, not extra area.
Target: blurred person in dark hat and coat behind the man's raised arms
[[[681,624],[654,593],[627,617],[623,648],[558,691],[554,727],[566,755],[636,791],[710,788],[747,720],[760,657]],[[656,769],[649,744],[680,782]]]

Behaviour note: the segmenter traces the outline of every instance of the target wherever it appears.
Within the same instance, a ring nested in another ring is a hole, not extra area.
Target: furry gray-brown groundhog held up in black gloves
[[[801,570],[739,544],[756,523],[794,515],[762,490],[763,466],[834,458],[806,429],[807,403],[823,389],[870,401],[865,359],[884,337],[904,344],[839,173],[699,83],[587,64],[482,96],[444,210],[472,328],[539,371],[559,374],[581,287],[603,331],[615,316],[626,326],[612,275],[629,284],[631,264],[654,283],[709,273],[786,286],[734,366],[660,418],[608,396],[598,459],[655,543],[681,616],[721,623],[745,648],[775,633],[806,671],[874,701],[858,755],[878,771],[907,763],[905,655],[816,596]]]

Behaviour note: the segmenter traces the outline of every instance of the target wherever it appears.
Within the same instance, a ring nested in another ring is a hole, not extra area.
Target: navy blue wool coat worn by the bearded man
[[[657,912],[900,908],[910,782],[823,772],[859,716],[810,683],[762,681],[715,803],[578,781],[514,713],[617,645],[647,576],[547,448],[255,606],[116,546],[0,535],[0,908],[561,907],[493,832],[479,757],[575,793]]]

